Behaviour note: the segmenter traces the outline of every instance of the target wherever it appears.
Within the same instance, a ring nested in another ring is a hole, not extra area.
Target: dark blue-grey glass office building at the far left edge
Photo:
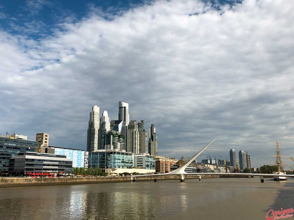
[[[31,149],[29,149],[29,147]],[[9,159],[16,156],[19,152],[35,151],[38,147],[36,141],[27,141],[0,136],[0,169],[8,171]]]

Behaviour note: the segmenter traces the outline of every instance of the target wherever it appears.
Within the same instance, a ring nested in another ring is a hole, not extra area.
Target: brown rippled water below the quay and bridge
[[[266,219],[294,208],[293,189],[259,178],[0,188],[0,219]]]

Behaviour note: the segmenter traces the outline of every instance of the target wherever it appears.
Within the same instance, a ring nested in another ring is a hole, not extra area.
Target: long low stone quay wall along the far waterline
[[[136,177],[136,176],[133,176]],[[215,178],[218,176],[201,176],[201,178]],[[198,176],[185,176],[185,179],[198,179]],[[153,181],[154,177],[137,177],[136,181]],[[157,180],[179,180],[178,176],[158,176]],[[57,178],[0,178],[0,187],[71,185],[107,182],[131,182],[131,177],[57,177]]]

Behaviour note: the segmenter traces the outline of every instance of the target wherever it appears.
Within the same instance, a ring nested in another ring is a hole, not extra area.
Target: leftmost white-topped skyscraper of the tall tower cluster
[[[87,134],[87,151],[98,150],[99,107],[92,107]]]

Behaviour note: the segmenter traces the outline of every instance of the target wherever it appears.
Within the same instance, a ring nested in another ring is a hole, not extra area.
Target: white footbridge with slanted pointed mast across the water
[[[215,141],[216,138],[213,140]],[[209,145],[213,143],[211,141],[208,145],[206,145],[202,150],[200,150],[198,153],[196,153],[190,160],[188,160],[186,163],[184,163],[181,167],[179,167],[176,170],[173,170],[168,173],[162,173],[162,174],[150,174],[150,175],[136,175],[131,176],[132,182],[136,181],[136,177],[154,177],[154,182],[156,182],[156,179],[158,176],[171,176],[171,175],[178,175],[181,182],[185,182],[185,175],[196,175],[199,176],[199,181],[201,181],[201,175],[226,175],[226,176],[259,176],[260,181],[264,182],[263,177],[294,177],[294,175],[283,175],[283,174],[262,174],[262,173],[186,173],[185,169],[192,163],[193,160],[195,160],[206,148],[208,148]]]

